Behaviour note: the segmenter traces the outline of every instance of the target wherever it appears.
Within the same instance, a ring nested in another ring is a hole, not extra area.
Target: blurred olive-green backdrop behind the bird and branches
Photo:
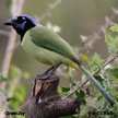
[[[28,14],[34,17],[35,15],[40,16],[54,1],[55,0],[25,0],[23,14]],[[3,22],[11,19],[10,10],[5,8],[5,0],[0,0],[0,30],[9,31],[9,27],[3,26]],[[105,23],[105,16],[113,13],[113,7],[118,7],[118,0],[62,0],[61,3],[51,11],[51,15],[42,21],[42,24],[46,25],[47,22],[50,22],[52,25],[60,26],[62,31],[59,35],[74,46],[81,43],[80,35],[90,36],[99,30]],[[17,37],[17,39],[19,38],[20,37]],[[8,37],[1,35],[0,69],[2,67],[7,43]],[[103,59],[107,57],[108,52],[104,38],[94,44],[91,54],[93,52],[99,54]],[[49,68],[35,61],[21,46],[14,51],[12,64],[30,73],[31,81],[24,82],[26,86],[31,86],[32,79],[37,73]],[[61,84],[64,85],[66,80],[61,80]]]

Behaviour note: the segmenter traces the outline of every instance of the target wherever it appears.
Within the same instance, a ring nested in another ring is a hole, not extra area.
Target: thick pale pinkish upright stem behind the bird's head
[[[11,15],[12,17],[20,15],[23,9],[23,3],[24,0],[12,0],[12,8],[11,8]],[[13,56],[13,49],[15,47],[15,39],[16,39],[16,33],[14,32],[14,30],[11,30],[10,35],[9,35],[9,43],[7,46],[7,50],[4,54],[4,58],[3,58],[3,63],[2,63],[2,74],[4,78],[8,78],[8,73],[9,73],[9,68],[10,68],[10,62]],[[9,51],[11,50],[12,51]],[[5,87],[7,82],[3,82],[1,84],[1,87]]]

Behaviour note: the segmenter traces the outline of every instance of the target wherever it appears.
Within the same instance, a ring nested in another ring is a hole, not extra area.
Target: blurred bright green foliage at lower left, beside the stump
[[[9,80],[4,79],[0,74],[0,82],[5,81],[8,83],[7,90],[0,90],[0,93],[2,93],[2,96],[4,96],[5,104],[8,104],[8,111],[19,111],[20,106],[23,104],[26,97],[26,87],[21,83],[21,81],[22,79],[27,80],[28,78],[28,73],[22,72],[15,66],[11,66],[10,68]],[[17,116],[14,116],[13,118],[17,118]],[[20,116],[20,118],[24,118],[24,116]]]

